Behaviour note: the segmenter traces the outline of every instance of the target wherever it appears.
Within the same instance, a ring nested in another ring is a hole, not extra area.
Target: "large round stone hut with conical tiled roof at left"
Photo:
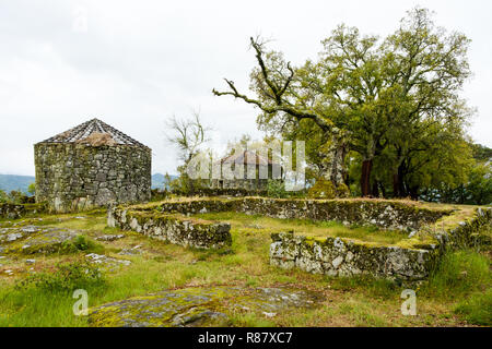
[[[98,119],[34,145],[36,202],[71,212],[151,197],[151,149]]]

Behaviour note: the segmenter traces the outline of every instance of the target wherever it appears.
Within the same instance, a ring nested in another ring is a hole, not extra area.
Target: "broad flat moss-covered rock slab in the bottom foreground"
[[[90,311],[95,327],[191,327],[227,324],[233,313],[276,316],[313,308],[320,296],[279,288],[207,287],[162,291],[105,304]]]

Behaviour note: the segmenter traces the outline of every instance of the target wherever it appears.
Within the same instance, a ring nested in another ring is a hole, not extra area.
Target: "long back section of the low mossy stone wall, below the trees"
[[[383,200],[294,200],[294,198],[202,198],[167,201],[133,206],[163,213],[197,214],[207,212],[241,212],[272,218],[337,220],[344,225],[377,226],[393,230],[417,231],[452,213],[431,209],[419,204]]]

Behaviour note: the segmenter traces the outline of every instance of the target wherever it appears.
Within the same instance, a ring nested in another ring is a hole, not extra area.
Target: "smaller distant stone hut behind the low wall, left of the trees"
[[[268,181],[274,177],[273,169],[276,167],[278,167],[280,178],[283,177],[282,167],[279,164],[274,164],[271,159],[265,158],[251,151],[244,151],[243,153],[224,157],[216,164],[221,166],[221,173],[224,173],[223,168],[225,166],[231,168],[232,171],[235,171],[237,166],[241,166],[243,167],[241,171],[244,173],[244,177],[226,179],[222,176],[221,179],[212,180],[211,186],[213,189],[266,190]],[[281,179],[276,180],[281,181]]]

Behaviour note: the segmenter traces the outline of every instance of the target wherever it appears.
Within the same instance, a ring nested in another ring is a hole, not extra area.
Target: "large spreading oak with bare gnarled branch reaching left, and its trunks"
[[[436,27],[425,9],[409,11],[384,40],[340,25],[323,41],[318,59],[297,68],[281,52],[267,51],[260,39],[250,41],[258,62],[250,75],[255,96],[241,93],[231,80],[225,80],[229,91],[213,93],[258,107],[265,129],[292,135],[315,127],[319,134],[313,140],[326,149],[318,160],[328,163],[321,168],[335,184],[345,178],[348,151],[358,153],[364,196],[371,193],[376,157],[391,149],[394,192],[402,195],[410,158],[470,113],[459,99],[470,75],[469,40]]]

